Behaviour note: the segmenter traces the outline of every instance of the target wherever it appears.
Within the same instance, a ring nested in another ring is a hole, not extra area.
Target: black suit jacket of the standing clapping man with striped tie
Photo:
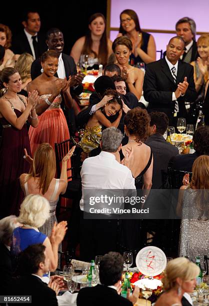
[[[172,92],[177,88],[179,82],[187,77],[188,88],[178,100],[178,116],[186,116],[184,101],[192,102],[196,99],[196,90],[193,79],[193,67],[181,60],[178,61],[176,83],[173,80],[170,69],[165,58],[148,63],[143,81],[143,96],[149,102],[149,111],[163,111],[171,121],[174,112],[174,101]]]

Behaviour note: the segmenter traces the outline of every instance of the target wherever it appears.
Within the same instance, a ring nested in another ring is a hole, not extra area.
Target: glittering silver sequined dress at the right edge
[[[209,219],[205,212],[202,214],[202,210],[196,207],[196,192],[191,188],[184,191],[179,256],[188,256],[192,261],[200,256],[203,266],[203,255],[209,253]]]

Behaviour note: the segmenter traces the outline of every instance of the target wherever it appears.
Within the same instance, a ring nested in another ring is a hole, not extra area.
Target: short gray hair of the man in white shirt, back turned
[[[122,141],[121,131],[114,127],[107,127],[102,130],[101,133],[101,149],[105,152],[116,152],[121,141]]]

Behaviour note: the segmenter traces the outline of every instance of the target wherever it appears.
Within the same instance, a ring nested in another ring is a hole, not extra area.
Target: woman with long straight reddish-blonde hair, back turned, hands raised
[[[57,222],[55,216],[56,204],[59,194],[63,194],[67,187],[67,161],[73,154],[75,146],[63,157],[60,178],[54,178],[56,172],[55,153],[49,143],[42,143],[35,151],[32,166],[29,174],[20,175],[20,185],[24,195],[40,194],[49,201],[49,218],[39,228],[41,232],[50,236],[54,222]],[[27,154],[26,154],[27,156]],[[28,158],[28,156],[27,156]]]

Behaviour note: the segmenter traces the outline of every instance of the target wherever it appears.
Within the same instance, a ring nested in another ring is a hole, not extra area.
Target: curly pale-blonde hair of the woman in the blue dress
[[[49,202],[39,194],[29,194],[20,205],[18,222],[40,227],[49,218]]]

